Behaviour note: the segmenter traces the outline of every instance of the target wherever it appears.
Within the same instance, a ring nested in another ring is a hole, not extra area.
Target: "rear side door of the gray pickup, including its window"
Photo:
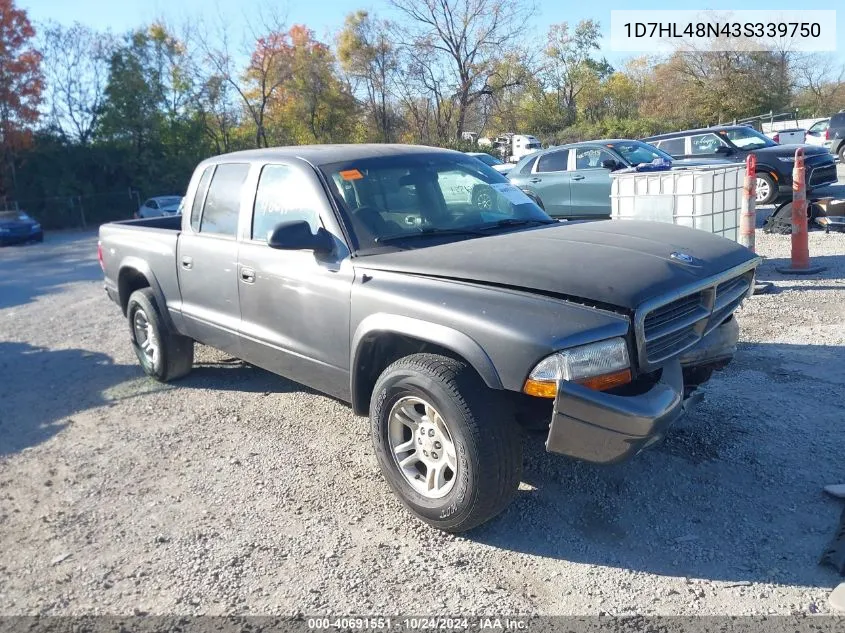
[[[237,229],[249,167],[221,163],[206,168],[176,256],[186,334],[238,357]]]

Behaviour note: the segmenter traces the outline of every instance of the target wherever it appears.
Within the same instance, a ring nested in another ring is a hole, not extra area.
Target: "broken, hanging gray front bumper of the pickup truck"
[[[613,464],[636,455],[662,439],[695,402],[694,398],[685,400],[684,376],[692,379],[698,375],[697,370],[712,371],[726,365],[736,351],[738,336],[736,320],[729,319],[698,345],[664,365],[657,383],[640,395],[614,395],[561,381],[546,450],[599,464]],[[706,373],[706,378],[709,375]]]

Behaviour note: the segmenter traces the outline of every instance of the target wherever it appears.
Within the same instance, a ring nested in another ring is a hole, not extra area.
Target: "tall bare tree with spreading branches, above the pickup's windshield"
[[[491,93],[501,55],[513,50],[533,7],[523,0],[391,0],[407,19],[401,36],[410,52],[409,72],[434,99],[439,121],[460,139],[467,114]],[[406,103],[408,100],[406,99]]]

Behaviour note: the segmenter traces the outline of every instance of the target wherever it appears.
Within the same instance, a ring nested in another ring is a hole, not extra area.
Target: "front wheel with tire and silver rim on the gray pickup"
[[[432,527],[458,533],[481,525],[508,505],[522,475],[521,433],[507,411],[499,394],[463,361],[436,354],[399,359],[379,376],[370,402],[373,445],[384,478]],[[400,420],[412,416],[416,426]],[[398,436],[397,428],[404,435]],[[394,452],[403,444],[414,448]],[[420,450],[426,459],[439,458],[439,469],[430,470]],[[403,470],[400,462],[412,455],[419,456],[417,462]],[[408,474],[414,469],[416,475]],[[442,481],[425,492],[432,472],[431,479],[444,473]]]

